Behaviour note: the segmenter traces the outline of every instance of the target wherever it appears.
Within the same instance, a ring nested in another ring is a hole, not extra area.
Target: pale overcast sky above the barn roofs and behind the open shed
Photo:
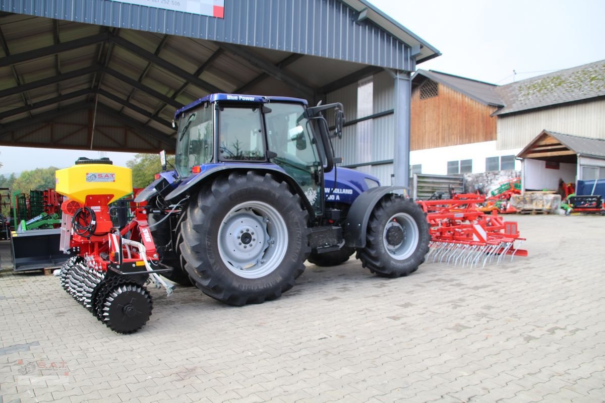
[[[502,85],[605,59],[603,0],[369,1],[442,53],[422,69]],[[116,165],[133,156],[106,154]],[[78,156],[99,153],[0,147],[0,174],[64,168]]]

